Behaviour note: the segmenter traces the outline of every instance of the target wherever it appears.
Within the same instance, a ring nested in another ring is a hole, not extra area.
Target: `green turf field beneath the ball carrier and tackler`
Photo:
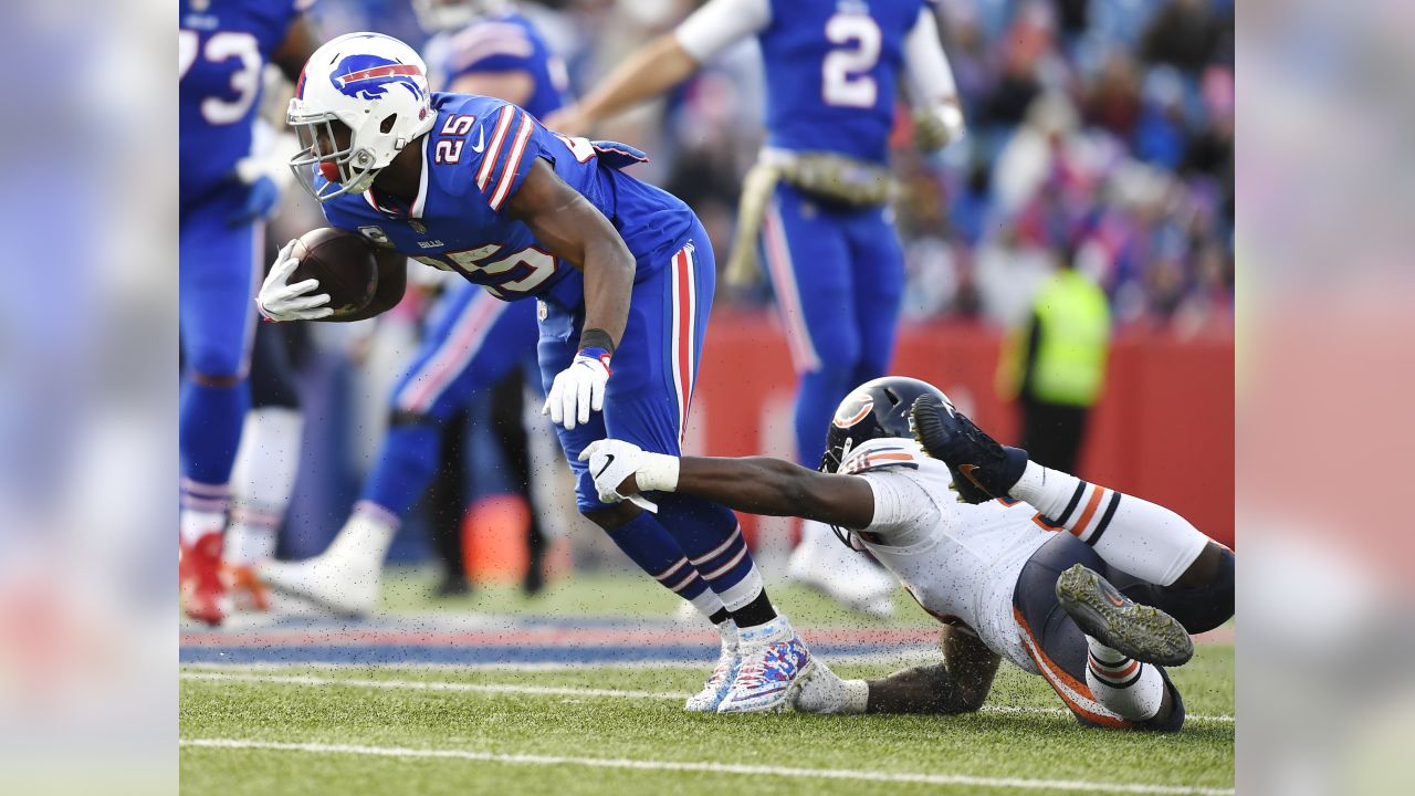
[[[385,603],[426,608],[412,598],[420,588],[416,576],[393,579]],[[594,579],[559,589],[548,603],[586,613],[597,613],[587,595],[614,591]],[[494,591],[471,601],[519,603]],[[805,592],[781,589],[777,602],[842,625]],[[1231,644],[1207,643],[1172,670],[1191,717],[1179,735],[1081,729],[1041,678],[1007,664],[983,712],[952,718],[688,715],[682,700],[706,674],[698,666],[187,666],[181,783],[221,796],[1230,792],[1232,660]],[[893,669],[832,667],[846,677]]]

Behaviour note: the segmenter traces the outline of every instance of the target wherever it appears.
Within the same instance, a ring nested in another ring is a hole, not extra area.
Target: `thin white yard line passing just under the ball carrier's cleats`
[[[183,671],[183,680],[197,681],[226,681],[226,683],[266,683],[273,686],[342,686],[345,688],[396,688],[410,691],[461,691],[481,694],[526,694],[546,697],[610,697],[624,700],[675,700],[683,701],[691,694],[668,691],[631,691],[620,688],[576,688],[556,686],[519,686],[501,683],[451,683],[446,680],[372,680],[358,677],[313,677],[306,674],[265,674],[265,673],[235,673],[235,671]],[[1036,708],[1016,705],[983,705],[983,712],[1026,712],[1070,715],[1064,708]],[[1194,715],[1189,721],[1213,721],[1232,724],[1231,715]]]

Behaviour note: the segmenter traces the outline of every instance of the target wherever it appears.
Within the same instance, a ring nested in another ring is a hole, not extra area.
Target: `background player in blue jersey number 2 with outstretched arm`
[[[584,132],[747,37],[766,67],[767,144],[746,180],[727,273],[756,273],[760,241],[801,377],[797,456],[814,466],[836,404],[883,375],[894,348],[904,262],[887,207],[887,156],[901,79],[921,144],[964,132],[930,3],[710,0],[548,123]],[[804,524],[791,569],[853,608],[893,609],[889,575],[819,523]]]

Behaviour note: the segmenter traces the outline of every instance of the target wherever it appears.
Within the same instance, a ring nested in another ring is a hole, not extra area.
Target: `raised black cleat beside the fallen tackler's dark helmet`
[[[1007,490],[1027,469],[1026,450],[999,445],[937,395],[925,392],[916,398],[910,419],[914,439],[930,456],[948,465],[954,489],[964,503],[1007,497]]]

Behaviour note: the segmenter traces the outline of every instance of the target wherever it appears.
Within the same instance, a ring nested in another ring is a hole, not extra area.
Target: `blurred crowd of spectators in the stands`
[[[576,92],[693,0],[522,1]],[[1230,334],[1234,302],[1232,0],[940,0],[969,135],[914,150],[899,113],[906,319],[1016,326],[1056,258],[1074,258],[1118,329]],[[420,44],[408,0],[321,0],[327,35]],[[648,150],[638,174],[703,218],[724,262],[741,176],[761,143],[760,59],[719,57],[665,102],[597,135]],[[719,303],[764,303],[767,288]]]

